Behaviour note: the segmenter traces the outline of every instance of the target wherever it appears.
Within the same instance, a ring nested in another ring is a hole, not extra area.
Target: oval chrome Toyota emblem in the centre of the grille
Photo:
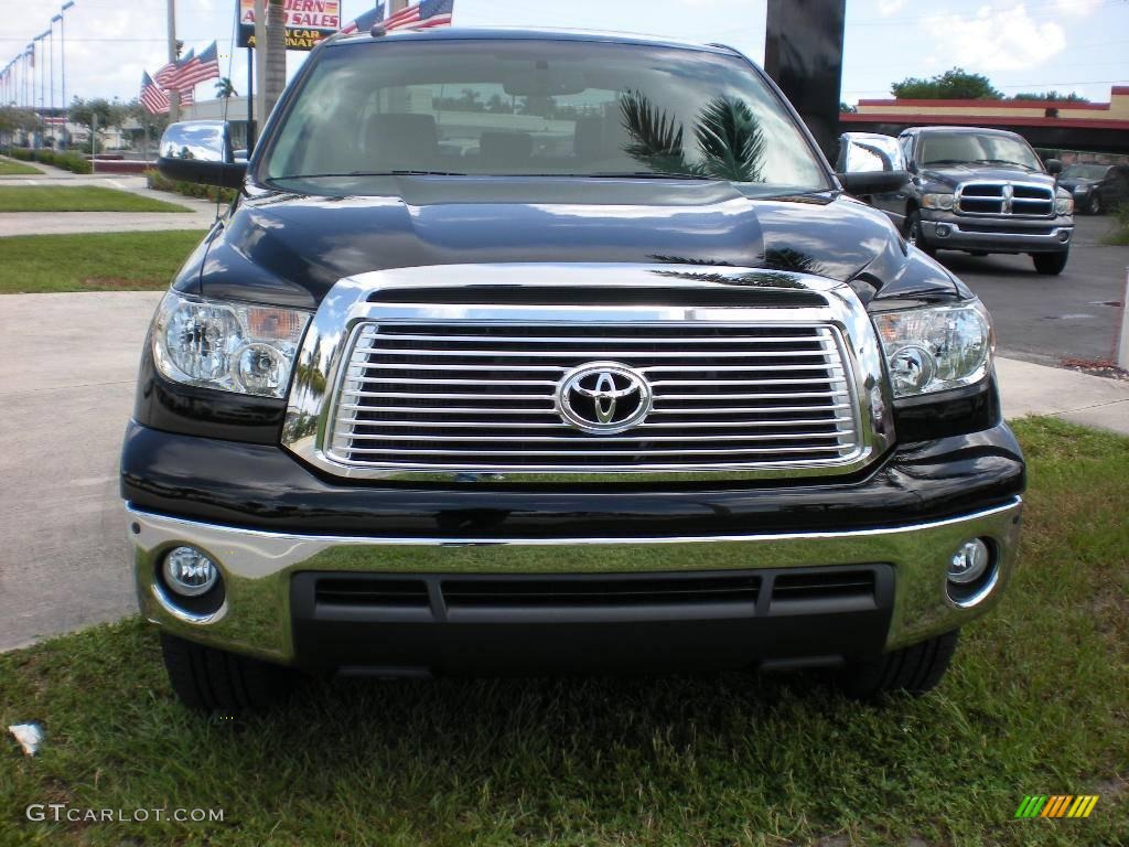
[[[554,395],[566,424],[594,435],[614,435],[638,426],[650,412],[647,378],[618,361],[593,361],[561,377]]]

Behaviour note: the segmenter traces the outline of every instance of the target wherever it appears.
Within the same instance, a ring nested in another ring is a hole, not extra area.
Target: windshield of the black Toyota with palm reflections
[[[358,177],[401,174],[830,187],[793,117],[738,58],[518,40],[326,50],[259,174],[326,194],[364,193]]]

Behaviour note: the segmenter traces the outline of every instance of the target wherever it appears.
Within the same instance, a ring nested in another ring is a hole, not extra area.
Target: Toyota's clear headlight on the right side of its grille
[[[874,315],[895,398],[973,385],[988,375],[996,346],[980,300]]]

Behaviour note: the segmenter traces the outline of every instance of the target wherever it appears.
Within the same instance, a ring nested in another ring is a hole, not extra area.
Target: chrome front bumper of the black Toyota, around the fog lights
[[[886,564],[894,568],[893,649],[948,631],[998,601],[1014,567],[1022,500],[959,517],[847,532],[715,538],[475,540],[291,535],[183,521],[126,506],[138,600],[172,634],[279,662],[295,661],[295,574],[646,574]],[[987,538],[998,578],[961,608],[945,592],[953,552]],[[227,595],[210,615],[177,610],[156,579],[166,551],[192,544],[220,565]]]

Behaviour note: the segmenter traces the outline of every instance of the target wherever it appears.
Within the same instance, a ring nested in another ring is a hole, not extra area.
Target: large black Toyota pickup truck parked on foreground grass
[[[828,666],[922,692],[1024,488],[983,306],[736,51],[339,36],[145,344],[122,456],[176,692]]]

